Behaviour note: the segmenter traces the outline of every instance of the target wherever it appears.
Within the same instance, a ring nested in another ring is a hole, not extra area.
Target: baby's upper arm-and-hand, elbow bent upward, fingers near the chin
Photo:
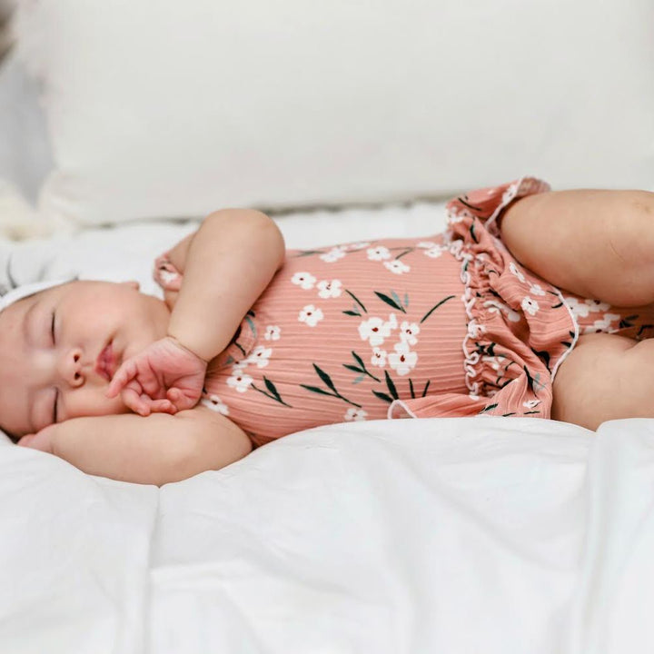
[[[176,410],[192,408],[207,363],[229,344],[284,252],[282,233],[264,213],[225,209],[209,215],[170,253],[183,282],[178,293],[166,293],[172,308],[168,336],[124,362],[107,395],[123,391],[125,404],[143,415],[163,398]]]

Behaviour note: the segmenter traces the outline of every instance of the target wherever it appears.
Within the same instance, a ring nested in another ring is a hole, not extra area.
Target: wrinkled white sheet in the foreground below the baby
[[[1,650],[649,651],[653,480],[641,419],[333,425],[161,490],[3,443]]]

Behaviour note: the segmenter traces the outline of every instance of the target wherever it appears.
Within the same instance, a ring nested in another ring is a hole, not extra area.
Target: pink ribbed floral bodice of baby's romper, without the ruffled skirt
[[[207,400],[262,444],[386,418],[396,398],[465,393],[462,292],[441,234],[289,251],[211,367]]]

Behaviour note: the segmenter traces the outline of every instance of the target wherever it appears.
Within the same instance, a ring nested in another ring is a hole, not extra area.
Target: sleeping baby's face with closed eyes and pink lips
[[[104,396],[124,359],[165,336],[170,312],[132,283],[70,282],[0,312],[0,427],[17,436],[128,410]]]

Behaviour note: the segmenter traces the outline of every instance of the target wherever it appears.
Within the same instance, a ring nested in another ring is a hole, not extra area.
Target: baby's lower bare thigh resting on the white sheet
[[[654,418],[654,339],[580,336],[554,379],[551,418],[596,430],[604,421]]]

